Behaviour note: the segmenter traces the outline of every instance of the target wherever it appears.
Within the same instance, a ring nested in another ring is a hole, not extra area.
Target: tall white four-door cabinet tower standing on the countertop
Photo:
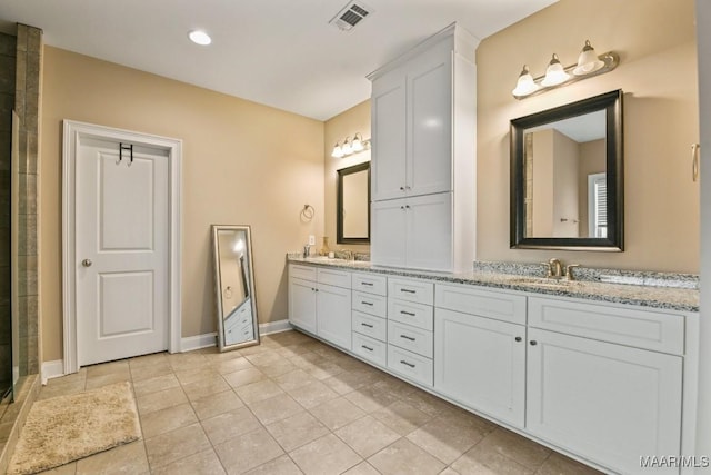
[[[452,24],[368,77],[373,264],[430,270],[471,266],[477,44]]]

